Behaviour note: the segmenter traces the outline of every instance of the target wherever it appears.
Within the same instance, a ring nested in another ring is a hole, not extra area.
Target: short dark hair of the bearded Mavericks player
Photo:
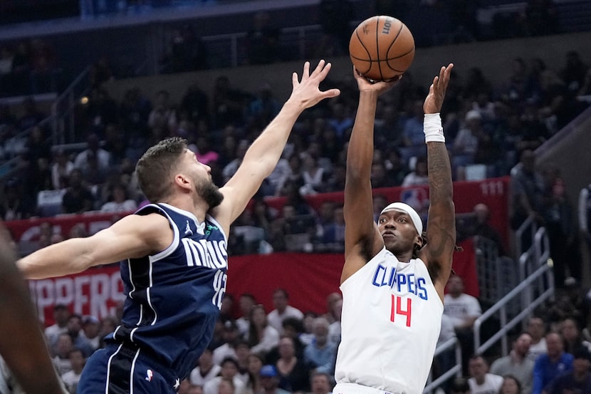
[[[137,161],[137,181],[150,202],[158,202],[169,195],[172,169],[185,150],[187,140],[178,137],[167,138],[150,147]]]

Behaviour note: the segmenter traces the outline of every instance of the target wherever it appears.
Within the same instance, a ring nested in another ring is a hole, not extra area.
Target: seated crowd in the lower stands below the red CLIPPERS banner
[[[457,336],[466,356],[461,373],[436,393],[591,393],[591,298],[582,294],[580,286],[570,284],[553,301],[535,309],[523,331],[513,330],[507,356],[501,355],[499,347],[474,354],[468,342],[474,320],[481,315],[478,299],[463,293],[458,276],[451,276],[449,288],[439,343]],[[273,309],[267,311],[257,304],[263,300],[252,294],[241,294],[238,299],[226,296],[214,338],[178,393],[332,391],[340,343],[340,293],[328,294],[325,309],[319,311],[300,311],[281,288],[270,299]],[[104,346],[103,337],[119,324],[121,308],[120,304],[112,316],[99,320],[70,313],[63,304],[54,306],[55,323],[44,331],[56,370],[70,393],[75,394],[86,358]],[[434,377],[455,365],[453,353],[434,358]],[[0,388],[14,385],[14,377],[0,358]]]

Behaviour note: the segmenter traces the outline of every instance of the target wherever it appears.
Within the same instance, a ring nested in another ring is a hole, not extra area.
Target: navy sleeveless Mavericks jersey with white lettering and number
[[[155,255],[121,262],[127,298],[114,339],[137,346],[182,380],[213,336],[226,291],[227,238],[213,217],[199,223],[169,204],[135,214],[153,212],[167,217],[174,241]]]

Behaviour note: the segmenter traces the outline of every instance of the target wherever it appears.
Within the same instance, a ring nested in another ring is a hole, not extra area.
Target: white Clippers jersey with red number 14
[[[337,383],[421,394],[433,362],[443,304],[421,259],[385,248],[340,286]]]

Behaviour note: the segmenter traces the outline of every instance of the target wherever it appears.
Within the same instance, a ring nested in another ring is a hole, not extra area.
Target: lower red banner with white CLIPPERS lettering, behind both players
[[[474,249],[464,242],[456,252],[454,270],[466,279],[466,293],[478,296]],[[275,253],[231,256],[227,294],[251,293],[266,311],[273,309],[273,290],[288,291],[290,304],[301,311],[324,313],[328,294],[339,291],[342,254]],[[125,299],[118,264],[88,269],[82,274],[28,281],[39,318],[53,324],[53,306],[68,305],[70,312],[98,318],[115,315]],[[235,303],[236,308],[238,303]],[[237,312],[237,310],[236,310]]]

